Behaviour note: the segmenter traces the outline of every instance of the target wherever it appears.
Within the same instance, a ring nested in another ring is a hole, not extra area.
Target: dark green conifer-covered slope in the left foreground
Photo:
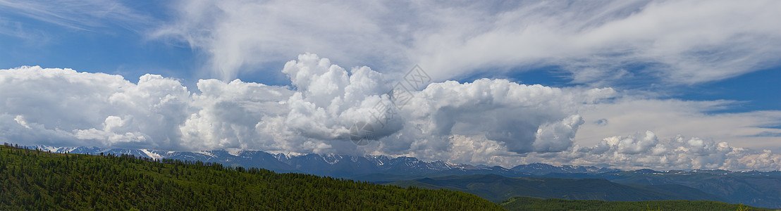
[[[0,146],[0,182],[0,210],[502,209],[465,192],[7,143]]]

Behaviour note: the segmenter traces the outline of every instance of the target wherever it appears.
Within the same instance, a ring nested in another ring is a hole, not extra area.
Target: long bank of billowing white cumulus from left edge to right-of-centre
[[[358,149],[349,128],[368,122],[380,153],[437,156],[452,135],[484,137],[509,152],[558,152],[583,124],[580,104],[612,97],[612,89],[558,89],[505,79],[433,83],[411,90],[394,107],[391,81],[368,67],[348,72],[327,58],[300,55],[282,72],[293,87],[234,80],[198,81],[191,93],[176,79],[71,69],[20,67],[0,73],[0,99],[10,142],[132,146],[155,149],[266,149],[308,153]],[[378,107],[384,106],[384,107]],[[393,114],[377,118],[380,108]],[[12,140],[32,132],[41,137]],[[58,135],[45,137],[46,134]],[[404,134],[404,135],[401,135]],[[339,146],[339,147],[337,147]],[[433,150],[433,151],[432,151]]]

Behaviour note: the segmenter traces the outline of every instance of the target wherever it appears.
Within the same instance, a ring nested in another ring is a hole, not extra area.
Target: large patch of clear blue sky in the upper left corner
[[[165,14],[165,5],[155,2],[137,6],[138,12]],[[10,4],[10,3],[8,3]],[[136,5],[137,4],[137,5]],[[128,5],[130,6],[130,5]],[[126,26],[114,19],[93,19],[89,23],[70,21],[69,16],[41,16],[30,11],[3,7],[0,42],[2,66],[41,65],[78,69],[84,72],[107,72],[137,81],[146,73],[187,79],[198,65],[197,52],[186,44],[149,40],[144,30],[149,26]],[[54,11],[56,12],[56,11]],[[165,19],[165,16],[150,18]],[[190,79],[194,79],[190,78]]]

